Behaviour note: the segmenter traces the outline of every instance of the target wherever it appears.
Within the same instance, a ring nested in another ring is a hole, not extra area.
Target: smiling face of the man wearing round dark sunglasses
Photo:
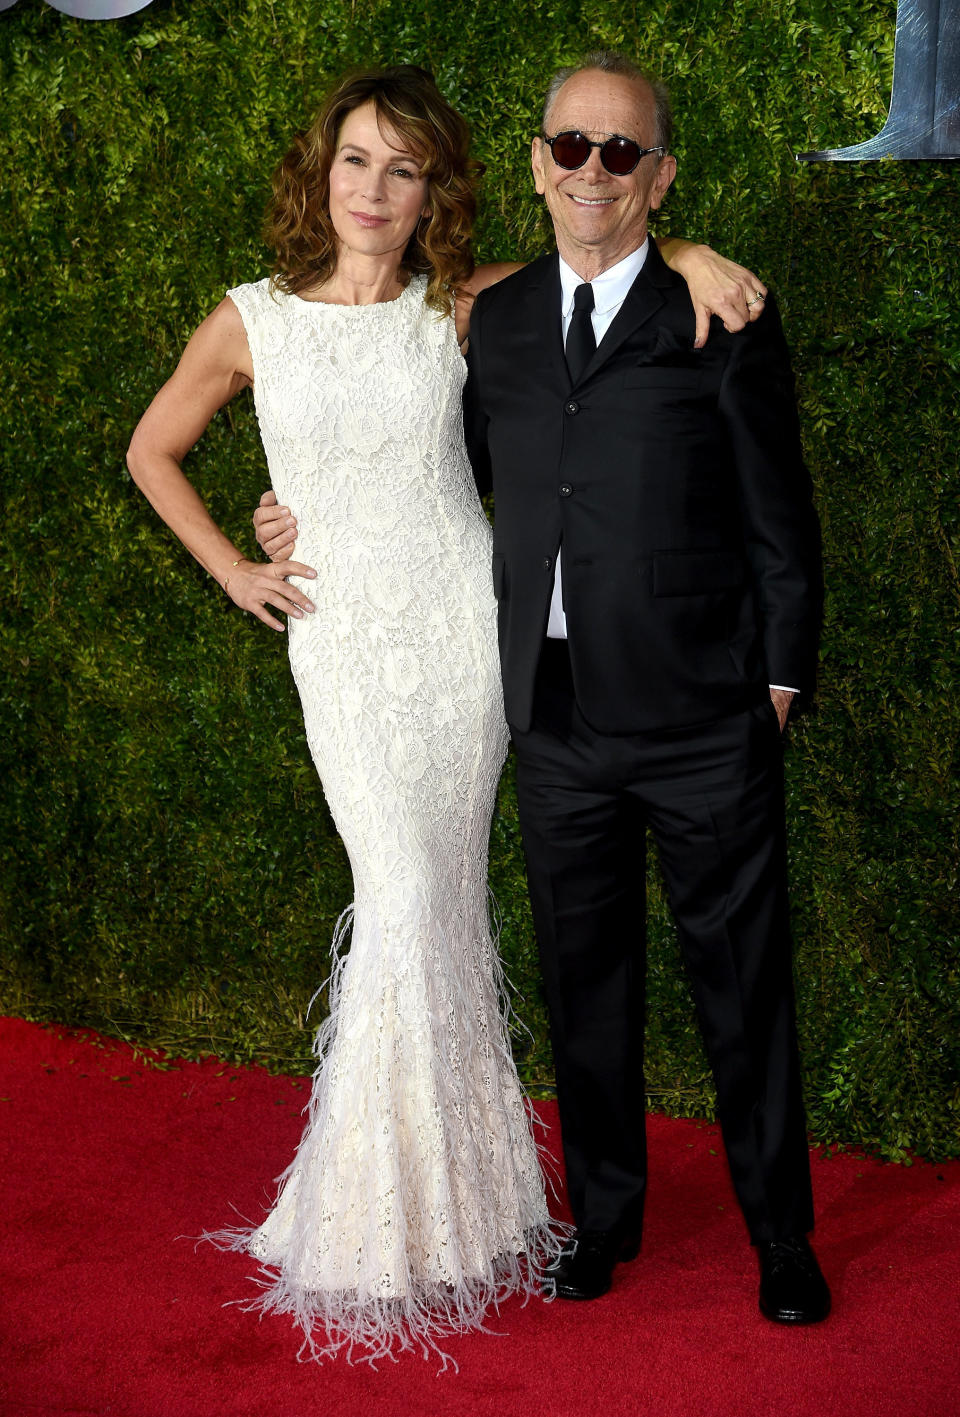
[[[586,69],[567,79],[547,113],[547,136],[576,129],[594,142],[631,137],[640,147],[657,143],[654,95],[645,84],[620,74]],[[557,248],[569,265],[593,279],[642,245],[647,213],[659,207],[674,180],[671,156],[648,153],[625,177],[608,173],[600,150],[590,149],[583,167],[567,171],[533,139],[533,181],[546,198]]]

